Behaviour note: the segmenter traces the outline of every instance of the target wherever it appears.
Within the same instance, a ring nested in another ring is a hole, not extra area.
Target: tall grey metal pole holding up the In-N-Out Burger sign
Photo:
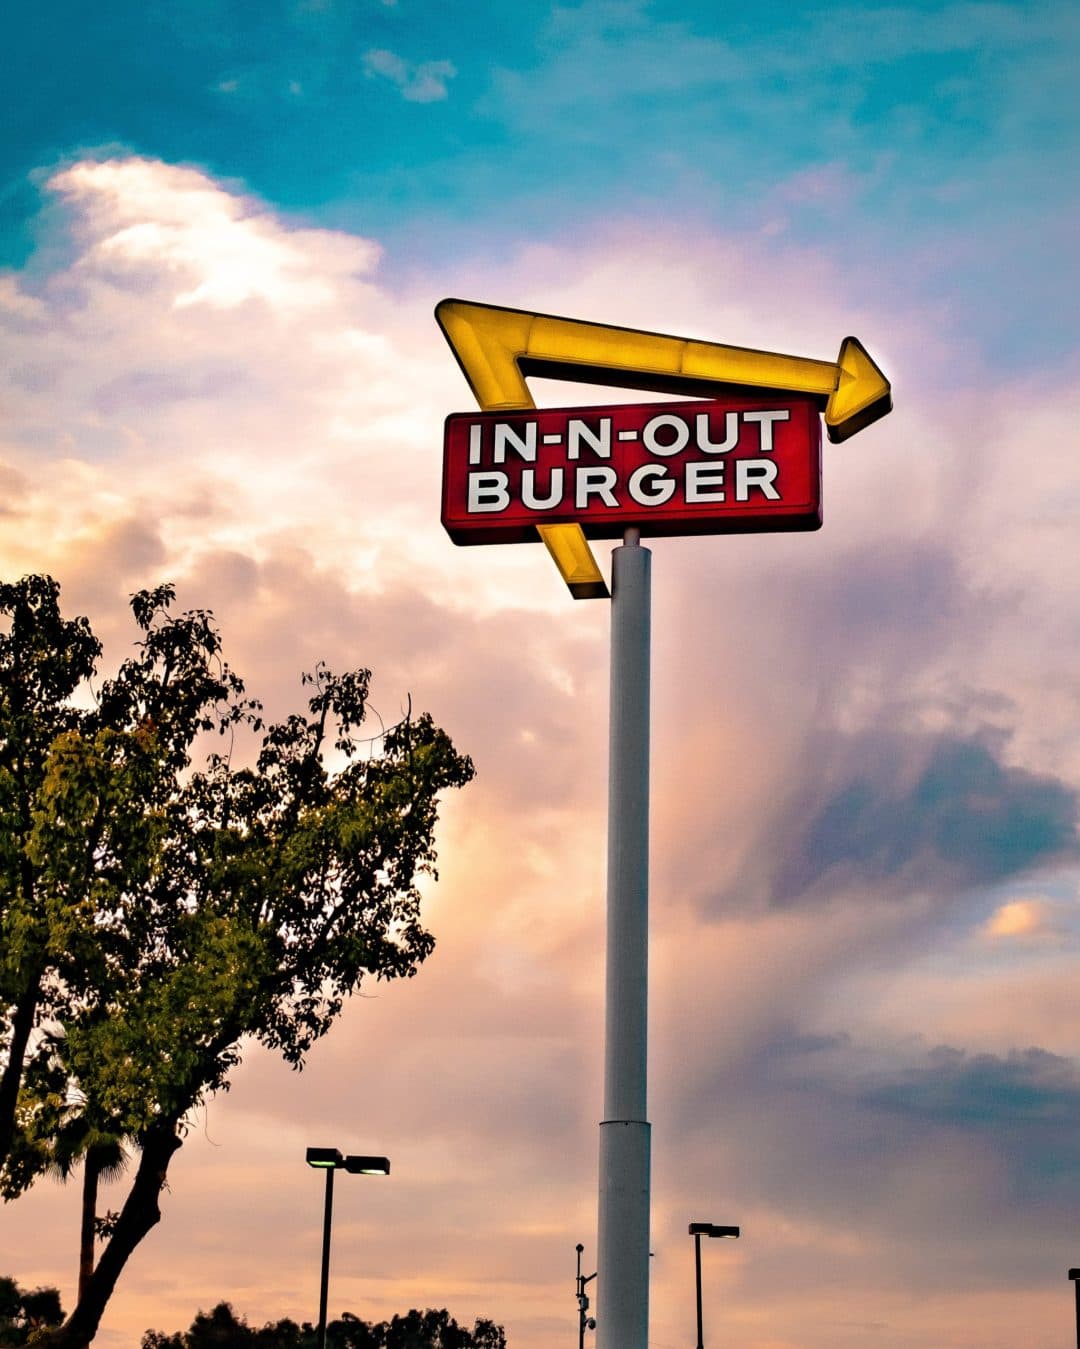
[[[650,563],[628,529],[612,552],[608,932],[600,1125],[597,1349],[649,1341]]]

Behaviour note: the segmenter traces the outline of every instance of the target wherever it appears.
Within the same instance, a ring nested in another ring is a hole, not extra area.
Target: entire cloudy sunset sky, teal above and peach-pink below
[[[96,1342],[222,1298],[313,1319],[307,1145],[392,1163],[337,1187],[332,1314],[576,1334],[608,611],[442,532],[446,295],[855,333],[893,382],[825,447],[820,533],[653,545],[650,1346],[694,1333],[690,1221],[743,1232],[702,1251],[707,1342],[1071,1342],[1080,12],[16,0],[0,31],[4,577],[57,576],[105,664],[171,580],[272,712],[367,665],[477,768],[434,954],[302,1074],[248,1048]],[[0,1272],[70,1304],[77,1205],[4,1207]]]

